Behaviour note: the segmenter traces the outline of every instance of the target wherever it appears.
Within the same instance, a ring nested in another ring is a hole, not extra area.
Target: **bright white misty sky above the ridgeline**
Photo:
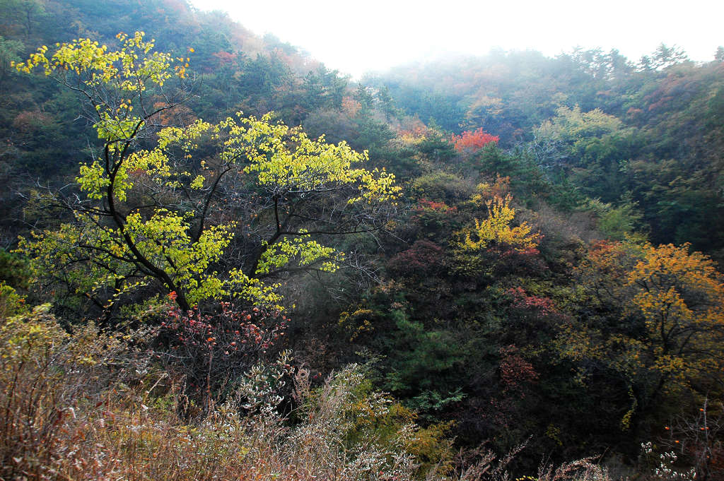
[[[638,60],[659,43],[696,61],[724,45],[724,1],[191,0],[263,35],[308,51],[327,67],[363,72],[445,54],[533,48],[549,56],[618,48]]]

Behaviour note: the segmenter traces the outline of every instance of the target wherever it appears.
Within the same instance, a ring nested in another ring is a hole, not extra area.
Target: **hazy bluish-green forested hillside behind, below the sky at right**
[[[405,114],[455,133],[482,127],[533,156],[552,182],[635,206],[653,242],[691,242],[716,256],[723,56],[720,48],[695,64],[664,45],[639,62],[617,51],[494,52],[370,83]]]

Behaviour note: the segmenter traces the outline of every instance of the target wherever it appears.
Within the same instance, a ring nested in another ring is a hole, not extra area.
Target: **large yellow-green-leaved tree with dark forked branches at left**
[[[45,196],[67,218],[20,242],[64,305],[90,299],[109,312],[123,297],[171,293],[185,310],[235,297],[278,305],[274,276],[336,270],[345,252],[325,240],[375,231],[394,213],[400,187],[358,166],[366,152],[271,114],[157,124],[188,97],[190,59],[153,51],[140,32],[118,39],[117,49],[42,46],[15,65],[79,93],[98,134],[100,155],[81,164],[77,184]]]

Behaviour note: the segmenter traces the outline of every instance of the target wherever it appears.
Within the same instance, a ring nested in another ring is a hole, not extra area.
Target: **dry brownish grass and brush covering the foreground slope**
[[[70,335],[47,307],[0,321],[0,480],[508,479],[515,453],[453,469],[450,440],[416,426],[361,367],[313,389],[285,357],[258,364],[224,404],[188,420],[183,378],[133,344],[93,325]],[[294,422],[277,410],[288,383]],[[561,469],[539,478],[606,479],[590,463]]]

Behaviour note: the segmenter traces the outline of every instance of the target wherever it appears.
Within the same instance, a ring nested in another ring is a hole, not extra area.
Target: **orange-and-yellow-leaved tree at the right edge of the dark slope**
[[[558,344],[581,366],[594,361],[628,380],[624,425],[662,391],[722,392],[724,284],[709,257],[689,244],[600,242],[578,280],[588,308]]]

